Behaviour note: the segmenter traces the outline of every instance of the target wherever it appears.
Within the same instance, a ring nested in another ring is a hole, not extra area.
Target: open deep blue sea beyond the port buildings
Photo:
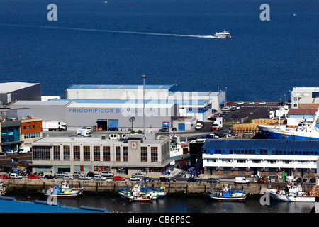
[[[48,21],[48,4],[57,21]],[[261,21],[261,4],[270,21]],[[179,84],[228,100],[318,87],[318,0],[0,0],[1,82]],[[293,14],[296,16],[293,16]],[[209,38],[230,31],[230,40]],[[190,36],[185,36],[190,35]]]

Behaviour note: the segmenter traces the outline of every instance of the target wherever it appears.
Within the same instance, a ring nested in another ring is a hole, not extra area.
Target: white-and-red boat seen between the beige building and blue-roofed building
[[[189,153],[189,143],[181,140],[177,135],[173,135],[171,138],[169,156],[174,161],[186,160],[191,157]]]

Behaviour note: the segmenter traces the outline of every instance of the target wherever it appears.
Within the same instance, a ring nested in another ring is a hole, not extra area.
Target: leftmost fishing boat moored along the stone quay
[[[45,196],[54,196],[57,198],[75,198],[83,194],[83,187],[69,187],[69,185],[62,183],[60,185],[53,184],[49,189],[43,189],[38,192]]]

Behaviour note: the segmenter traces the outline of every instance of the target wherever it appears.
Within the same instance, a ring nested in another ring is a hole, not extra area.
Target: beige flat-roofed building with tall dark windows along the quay
[[[114,139],[115,138],[115,139]],[[119,139],[120,138],[120,139]],[[159,176],[169,166],[169,138],[142,135],[47,137],[32,144],[33,172],[84,173],[111,171],[116,175],[142,172]]]

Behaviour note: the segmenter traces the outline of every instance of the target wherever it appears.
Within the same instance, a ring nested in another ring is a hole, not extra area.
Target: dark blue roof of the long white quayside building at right
[[[213,140],[208,139],[202,149],[233,150],[319,150],[318,140]]]

